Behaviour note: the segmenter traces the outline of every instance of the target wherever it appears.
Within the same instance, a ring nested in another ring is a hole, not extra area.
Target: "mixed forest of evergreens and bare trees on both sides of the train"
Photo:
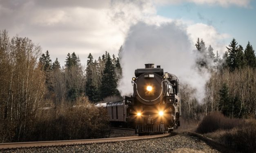
[[[207,71],[205,98],[198,103],[195,89],[181,83],[184,120],[202,120],[219,112],[228,118],[256,116],[256,56],[232,39],[223,57],[214,48],[196,41],[195,70]],[[106,112],[93,104],[118,101],[122,78],[120,55],[88,55],[82,66],[75,52],[65,66],[52,61],[48,50],[27,37],[9,38],[0,31],[0,142],[102,138],[108,126]],[[192,51],[192,50],[191,50]],[[133,73],[133,72],[132,72]]]

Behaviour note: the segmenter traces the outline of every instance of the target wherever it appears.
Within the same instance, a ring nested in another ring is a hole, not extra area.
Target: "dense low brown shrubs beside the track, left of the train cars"
[[[107,110],[95,107],[85,97],[73,106],[41,111],[25,141],[103,138],[107,133]]]

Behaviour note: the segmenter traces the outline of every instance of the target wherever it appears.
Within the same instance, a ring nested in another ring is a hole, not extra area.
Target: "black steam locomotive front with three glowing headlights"
[[[131,83],[134,93],[125,96],[126,120],[134,124],[135,133],[167,133],[180,126],[179,80],[174,74],[149,63],[135,70]]]

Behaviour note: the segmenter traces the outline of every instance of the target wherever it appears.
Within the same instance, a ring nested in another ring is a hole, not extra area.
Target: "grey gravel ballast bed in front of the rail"
[[[185,134],[165,138],[3,150],[4,153],[219,153],[202,140]]]

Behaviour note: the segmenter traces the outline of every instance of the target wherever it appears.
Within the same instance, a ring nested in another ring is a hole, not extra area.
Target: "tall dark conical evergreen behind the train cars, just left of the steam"
[[[103,71],[101,82],[101,98],[114,95],[120,96],[120,93],[117,90],[117,80],[115,78],[114,64],[112,63],[109,53],[106,56],[105,69]]]

